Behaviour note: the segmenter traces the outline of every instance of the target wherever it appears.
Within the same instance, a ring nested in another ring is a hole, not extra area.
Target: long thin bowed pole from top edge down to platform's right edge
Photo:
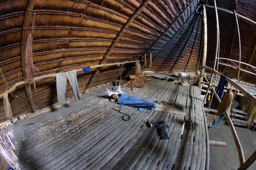
[[[210,85],[212,84],[212,79],[213,79],[213,76],[214,76],[216,60],[217,60],[217,57],[218,57],[218,50],[219,50],[219,17],[218,17],[218,11],[217,11],[217,6],[216,6],[216,1],[215,0],[214,0],[214,9],[215,9],[215,15],[216,15],[216,49],[215,49],[215,60],[214,60],[214,63],[213,63],[213,68],[212,68],[213,69],[212,75],[211,75],[211,78],[210,78],[207,90],[205,92],[203,104],[206,101],[207,95],[208,95],[209,90],[210,90]]]

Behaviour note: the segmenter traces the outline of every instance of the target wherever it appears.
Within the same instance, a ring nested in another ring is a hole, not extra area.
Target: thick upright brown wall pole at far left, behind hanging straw
[[[26,78],[27,72],[26,72],[25,51],[26,51],[26,44],[27,44],[27,40],[28,40],[28,34],[29,34],[28,27],[30,24],[32,10],[34,8],[35,3],[36,3],[36,0],[28,0],[26,12],[25,12],[24,19],[23,19],[23,27],[22,27],[22,35],[21,35],[21,64],[22,64],[23,79],[26,82],[27,82],[27,78]],[[28,84],[28,82],[25,84],[25,87],[26,87],[26,92],[28,95],[28,100],[29,100],[30,106],[31,106],[33,112],[36,112],[36,106],[33,101],[30,85]]]

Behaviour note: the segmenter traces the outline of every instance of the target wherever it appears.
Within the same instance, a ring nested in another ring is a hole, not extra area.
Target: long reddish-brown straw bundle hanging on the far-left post
[[[28,35],[27,45],[26,45],[26,78],[30,84],[34,84],[34,88],[36,89],[35,81],[34,81],[34,65],[33,65],[33,51],[32,51],[32,33]]]

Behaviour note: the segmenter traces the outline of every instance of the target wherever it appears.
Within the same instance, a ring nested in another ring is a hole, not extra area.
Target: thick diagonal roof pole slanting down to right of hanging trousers
[[[111,43],[111,45],[108,47],[107,52],[104,54],[104,57],[102,58],[102,60],[100,61],[99,64],[104,64],[105,61],[107,60],[108,56],[110,55],[111,51],[114,49],[114,47],[116,46],[117,42],[120,40],[120,38],[123,36],[124,32],[126,31],[126,29],[131,25],[132,21],[140,14],[140,12],[146,7],[146,5],[150,2],[151,0],[145,0],[144,2],[142,2],[140,4],[140,6],[136,9],[135,12],[133,12],[132,16],[126,21],[126,23],[124,24],[124,26],[121,28],[121,30],[118,32],[118,34],[116,35],[116,38],[113,40],[113,42]],[[84,88],[83,94],[90,88],[92,81],[95,79],[95,77],[97,76],[97,73],[100,72],[101,67],[98,68],[98,72],[94,71],[90,81],[88,82],[88,84],[86,85],[86,87]]]

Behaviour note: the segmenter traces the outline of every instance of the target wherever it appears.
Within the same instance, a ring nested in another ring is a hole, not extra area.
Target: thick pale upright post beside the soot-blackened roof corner
[[[207,54],[207,17],[206,17],[206,10],[205,5],[203,5],[203,22],[204,22],[204,43],[203,43],[203,59],[201,64],[201,70],[200,70],[200,79],[199,79],[199,89],[201,90],[203,87],[203,76],[204,76],[204,67],[205,67],[205,61],[206,61],[206,54]]]

